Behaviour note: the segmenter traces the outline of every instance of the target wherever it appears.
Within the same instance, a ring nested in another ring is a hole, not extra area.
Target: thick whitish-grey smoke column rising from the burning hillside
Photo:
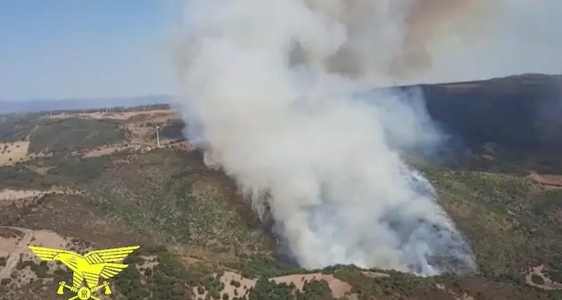
[[[176,62],[189,137],[275,220],[285,255],[302,267],[475,268],[430,183],[398,154],[442,137],[420,94],[365,92],[429,66],[411,62],[423,50],[411,28],[422,2],[187,5]]]

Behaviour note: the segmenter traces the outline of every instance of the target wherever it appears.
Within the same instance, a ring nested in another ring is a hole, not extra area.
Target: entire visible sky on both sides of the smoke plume
[[[176,78],[170,61],[181,20],[179,3],[0,3],[0,101],[173,94]],[[397,84],[562,73],[557,34],[562,3],[503,3],[485,35],[441,38],[429,49],[431,68]]]

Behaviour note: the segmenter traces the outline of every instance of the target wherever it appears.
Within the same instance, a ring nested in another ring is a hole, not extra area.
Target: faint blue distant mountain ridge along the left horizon
[[[92,98],[64,100],[0,101],[0,113],[39,112],[48,110],[99,109],[104,107],[134,107],[149,104],[167,104],[170,95],[148,95],[123,98]]]

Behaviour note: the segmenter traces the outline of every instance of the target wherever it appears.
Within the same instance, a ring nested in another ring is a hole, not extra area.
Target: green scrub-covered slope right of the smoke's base
[[[562,227],[541,207],[559,209],[562,203],[554,199],[562,199],[562,192],[542,191],[528,179],[512,175],[430,166],[422,170],[472,243],[480,272],[518,277],[522,266],[534,259],[560,261]]]

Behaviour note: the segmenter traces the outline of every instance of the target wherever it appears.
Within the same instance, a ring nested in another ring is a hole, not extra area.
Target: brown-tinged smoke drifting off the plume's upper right
[[[494,28],[492,21],[502,16],[500,12],[504,8],[504,0],[308,0],[308,3],[331,20],[346,25],[345,45],[331,57],[337,70],[376,69],[379,75],[384,73],[394,81],[423,77],[424,71],[432,67],[431,45],[450,36],[463,41],[481,38]]]

